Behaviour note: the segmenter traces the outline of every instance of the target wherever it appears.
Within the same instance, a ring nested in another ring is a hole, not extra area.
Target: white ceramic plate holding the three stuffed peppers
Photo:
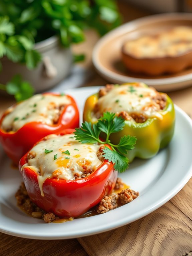
[[[87,96],[98,87],[68,90],[81,110]],[[129,170],[119,175],[132,189],[140,192],[133,202],[102,215],[46,224],[23,213],[14,194],[21,176],[0,148],[0,231],[35,239],[68,239],[105,232],[153,212],[169,201],[192,176],[192,121],[176,107],[176,127],[170,145],[150,160],[135,159]]]

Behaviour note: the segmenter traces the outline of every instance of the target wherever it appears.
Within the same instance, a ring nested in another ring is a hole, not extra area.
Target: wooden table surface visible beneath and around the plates
[[[123,2],[120,4],[120,10],[124,21],[150,14]],[[96,33],[89,30],[86,32],[86,41],[73,47],[76,53],[86,53],[86,61],[80,65],[87,69],[93,69],[91,51],[97,40]],[[107,81],[94,72],[91,80],[83,86],[106,83]],[[192,117],[192,87],[171,92],[169,96]],[[13,99],[0,96],[0,112],[12,103]],[[57,241],[24,239],[0,233],[0,241],[1,256],[192,255],[192,178],[164,206],[138,221],[113,231]]]

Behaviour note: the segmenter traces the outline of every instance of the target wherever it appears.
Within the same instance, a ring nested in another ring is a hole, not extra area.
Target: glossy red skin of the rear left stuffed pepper
[[[57,93],[44,93],[43,95],[59,95]],[[18,164],[20,158],[41,138],[67,128],[76,128],[79,126],[79,111],[74,99],[66,95],[71,103],[65,105],[59,120],[56,124],[47,125],[40,122],[29,122],[22,126],[16,132],[6,132],[1,129],[1,123],[6,114],[0,119],[0,142],[15,164]]]

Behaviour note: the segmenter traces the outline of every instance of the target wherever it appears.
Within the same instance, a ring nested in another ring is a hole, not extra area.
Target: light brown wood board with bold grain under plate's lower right
[[[168,202],[148,216],[109,232],[79,238],[78,241],[90,256],[188,255],[192,250],[191,204],[186,215],[181,211],[183,207],[179,202],[190,200],[191,193],[186,186],[173,202]],[[183,194],[188,194],[187,200],[183,199]]]

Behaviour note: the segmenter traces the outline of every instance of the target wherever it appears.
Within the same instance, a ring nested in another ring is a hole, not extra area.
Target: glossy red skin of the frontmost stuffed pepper
[[[64,130],[60,135],[72,133]],[[97,205],[102,198],[112,193],[117,179],[114,164],[104,160],[102,165],[86,178],[65,180],[47,178],[43,183],[41,196],[37,173],[30,167],[22,166],[27,162],[27,153],[19,162],[19,170],[31,201],[45,212],[59,217],[78,217]]]

